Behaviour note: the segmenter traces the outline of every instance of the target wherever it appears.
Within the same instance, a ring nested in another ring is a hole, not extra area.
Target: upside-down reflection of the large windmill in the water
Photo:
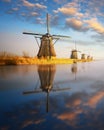
[[[55,65],[39,65],[38,75],[39,75],[39,80],[40,80],[40,87],[38,88],[36,86],[36,89],[34,90],[23,92],[24,95],[45,92],[46,93],[46,112],[49,111],[49,93],[50,92],[64,91],[64,90],[70,89],[69,87],[67,88],[55,87],[55,85],[54,85],[55,88],[53,87],[55,72],[56,72]]]

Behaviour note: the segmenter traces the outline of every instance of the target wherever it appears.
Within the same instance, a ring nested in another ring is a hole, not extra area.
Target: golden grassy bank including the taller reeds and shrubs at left
[[[22,56],[18,56],[8,52],[0,52],[0,65],[33,65],[33,64],[72,64],[75,62],[89,62],[92,59],[69,59],[69,58],[54,58],[38,59],[30,57],[28,53],[23,52]]]

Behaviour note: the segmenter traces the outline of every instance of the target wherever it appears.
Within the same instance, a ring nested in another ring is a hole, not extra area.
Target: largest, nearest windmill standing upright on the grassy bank
[[[29,32],[23,32],[23,34],[33,35],[36,39],[36,42],[39,47],[39,51],[37,54],[38,58],[49,58],[56,57],[56,52],[54,50],[54,44],[60,39],[60,38],[70,38],[70,36],[63,36],[63,35],[51,35],[49,32],[49,15],[47,13],[47,33],[46,34],[40,34],[40,33],[29,33]],[[40,39],[40,44],[38,43],[37,38]],[[55,40],[53,42],[53,40]]]

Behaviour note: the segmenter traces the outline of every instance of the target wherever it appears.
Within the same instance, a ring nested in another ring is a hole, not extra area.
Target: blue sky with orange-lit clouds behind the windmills
[[[69,58],[76,43],[81,53],[104,59],[104,0],[0,0],[0,52],[36,56],[34,36],[22,33],[45,34],[47,13],[50,34],[71,37],[55,44],[57,57]]]

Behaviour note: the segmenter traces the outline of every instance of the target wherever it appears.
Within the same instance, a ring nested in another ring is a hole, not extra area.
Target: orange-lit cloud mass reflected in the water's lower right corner
[[[83,127],[83,129],[87,127],[102,129],[104,112],[103,107],[99,107],[98,102],[102,101],[104,92],[100,90],[91,95],[85,92],[71,95],[69,100],[65,101],[68,109],[55,115],[55,117],[69,126],[77,127],[78,130],[80,130],[80,127]],[[80,124],[82,121],[84,125]],[[98,123],[96,124],[95,122]]]

